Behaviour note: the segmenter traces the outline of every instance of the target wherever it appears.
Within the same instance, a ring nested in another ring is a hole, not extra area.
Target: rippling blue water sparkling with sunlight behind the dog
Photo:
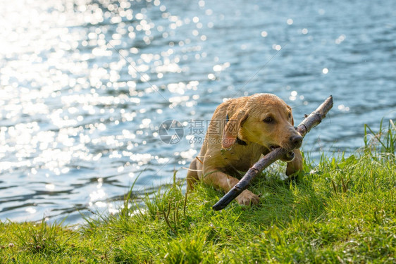
[[[228,97],[270,92],[296,122],[334,108],[303,149],[351,153],[396,118],[396,2],[0,3],[0,220],[116,213],[185,177]],[[161,122],[185,126],[161,142]],[[191,120],[194,120],[193,122]],[[89,213],[87,213],[89,214]]]

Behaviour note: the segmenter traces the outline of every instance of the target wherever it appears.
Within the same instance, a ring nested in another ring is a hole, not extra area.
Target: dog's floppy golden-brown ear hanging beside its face
[[[221,140],[221,146],[223,149],[228,149],[237,142],[238,130],[240,130],[248,116],[249,115],[242,110],[235,113],[229,120],[226,120],[223,131],[223,139]]]

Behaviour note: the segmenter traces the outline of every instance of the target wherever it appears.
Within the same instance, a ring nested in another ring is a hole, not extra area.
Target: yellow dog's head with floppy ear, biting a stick
[[[268,150],[277,147],[298,149],[301,135],[295,130],[292,108],[273,94],[255,94],[247,97],[245,106],[236,108],[223,131],[223,148],[237,142],[254,142]]]

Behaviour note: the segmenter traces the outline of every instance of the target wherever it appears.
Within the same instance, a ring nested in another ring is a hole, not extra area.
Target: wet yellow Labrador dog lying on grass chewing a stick
[[[194,188],[194,182],[203,180],[229,191],[239,181],[233,176],[246,172],[261,154],[266,155],[277,147],[295,149],[294,158],[287,161],[286,168],[286,175],[292,175],[302,170],[298,150],[301,144],[292,109],[278,96],[254,94],[225,101],[216,108],[201,152],[190,164],[187,190]],[[244,205],[256,204],[259,196],[245,190],[236,200]]]

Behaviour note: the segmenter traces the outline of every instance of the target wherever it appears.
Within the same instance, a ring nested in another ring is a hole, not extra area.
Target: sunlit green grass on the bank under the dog
[[[186,199],[174,181],[83,227],[0,222],[0,262],[395,263],[395,132],[381,125],[348,158],[306,159],[297,182],[268,170],[250,187],[261,194],[252,208],[216,212],[223,194],[198,184]]]

